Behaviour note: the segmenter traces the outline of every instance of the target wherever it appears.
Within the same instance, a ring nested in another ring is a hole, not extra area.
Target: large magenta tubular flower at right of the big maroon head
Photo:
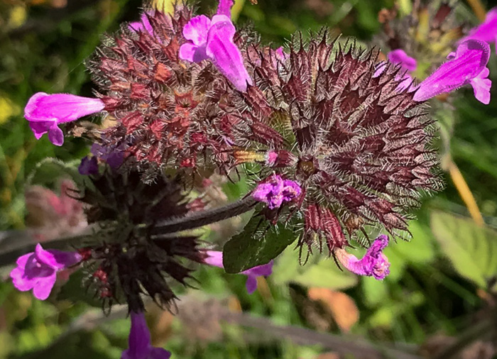
[[[449,61],[440,65],[419,87],[413,99],[425,101],[445,92],[452,92],[465,84],[471,84],[474,96],[484,104],[490,102],[491,80],[486,67],[490,46],[481,40],[466,40],[459,44],[455,53],[447,56]]]

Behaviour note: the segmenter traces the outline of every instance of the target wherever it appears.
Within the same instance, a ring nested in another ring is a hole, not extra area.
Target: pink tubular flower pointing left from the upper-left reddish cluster
[[[37,92],[26,104],[24,117],[29,121],[37,140],[48,133],[50,142],[60,146],[64,143],[64,133],[58,127],[59,123],[76,121],[82,116],[95,114],[103,109],[104,102],[100,99]]]

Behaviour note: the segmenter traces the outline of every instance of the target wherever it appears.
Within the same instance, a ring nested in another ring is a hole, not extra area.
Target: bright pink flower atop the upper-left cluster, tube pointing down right
[[[200,15],[188,21],[183,35],[190,42],[181,45],[180,58],[191,62],[211,60],[236,89],[245,92],[252,79],[233,41],[236,29],[229,18],[232,4],[232,1],[220,1],[217,15],[212,19]]]

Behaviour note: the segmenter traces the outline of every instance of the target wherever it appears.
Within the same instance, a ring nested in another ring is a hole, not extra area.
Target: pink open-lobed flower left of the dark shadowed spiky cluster
[[[81,259],[78,253],[44,250],[38,243],[33,253],[18,258],[17,267],[11,271],[13,285],[21,292],[33,289],[36,298],[45,300],[55,285],[57,272],[75,265]]]

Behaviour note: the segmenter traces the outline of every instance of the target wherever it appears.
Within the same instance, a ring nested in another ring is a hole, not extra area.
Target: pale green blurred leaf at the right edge
[[[440,211],[432,212],[431,226],[459,275],[486,288],[497,273],[497,232]]]

